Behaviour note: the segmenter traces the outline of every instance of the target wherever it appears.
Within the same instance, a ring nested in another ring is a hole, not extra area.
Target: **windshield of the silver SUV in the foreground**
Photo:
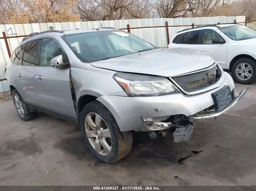
[[[157,48],[124,31],[93,31],[63,35],[61,37],[84,63]]]

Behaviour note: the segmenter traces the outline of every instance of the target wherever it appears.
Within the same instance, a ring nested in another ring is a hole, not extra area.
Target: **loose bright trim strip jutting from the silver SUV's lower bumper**
[[[234,105],[236,105],[236,103],[241,99],[241,97],[244,96],[244,94],[248,91],[249,87],[246,90],[242,90],[239,94],[239,96],[235,97],[235,99],[230,102],[229,105],[225,106],[224,108],[222,108],[221,110],[218,111],[209,111],[209,112],[205,112],[202,113],[200,115],[194,115],[192,116],[195,120],[199,120],[199,119],[205,119],[205,118],[210,118],[210,117],[217,117],[221,114],[223,114],[224,112],[228,111],[230,108],[232,108]]]

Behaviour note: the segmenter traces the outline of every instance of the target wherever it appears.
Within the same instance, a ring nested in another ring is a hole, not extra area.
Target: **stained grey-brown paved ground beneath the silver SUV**
[[[247,86],[236,84],[236,94]],[[256,185],[256,84],[230,111],[195,125],[189,143],[134,134],[131,153],[96,160],[76,124],[39,114],[21,121],[0,104],[0,185]]]

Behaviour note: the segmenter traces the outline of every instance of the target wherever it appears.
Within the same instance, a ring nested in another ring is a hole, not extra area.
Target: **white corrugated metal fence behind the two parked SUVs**
[[[244,16],[232,17],[193,17],[193,18],[155,18],[155,19],[129,19],[129,20],[106,20],[70,23],[31,23],[0,25],[0,92],[8,91],[8,82],[5,80],[4,68],[9,62],[9,55],[22,41],[23,37],[33,32],[72,29],[92,29],[99,27],[114,27],[134,34],[148,42],[164,47],[169,39],[182,29],[192,28],[205,24],[217,23],[241,23],[245,24]],[[3,33],[2,33],[3,32]],[[6,37],[4,37],[6,35]],[[8,48],[6,47],[9,46]]]

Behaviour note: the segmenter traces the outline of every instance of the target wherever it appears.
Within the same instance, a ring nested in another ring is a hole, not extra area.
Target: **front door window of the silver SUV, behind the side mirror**
[[[50,61],[58,55],[62,55],[63,62],[68,63],[67,55],[57,41],[51,38],[44,38],[41,46],[40,66],[50,67]]]

